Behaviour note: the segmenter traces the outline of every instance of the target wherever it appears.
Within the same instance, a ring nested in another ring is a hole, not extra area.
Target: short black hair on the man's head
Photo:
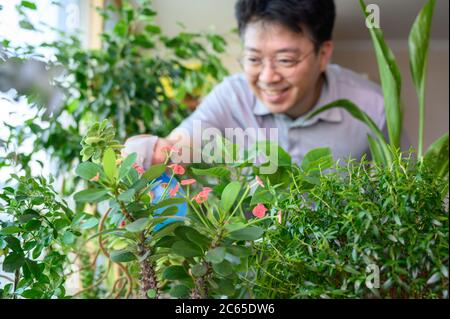
[[[235,5],[239,33],[250,22],[276,22],[296,33],[308,28],[316,48],[331,40],[336,8],[334,0],[238,0]]]

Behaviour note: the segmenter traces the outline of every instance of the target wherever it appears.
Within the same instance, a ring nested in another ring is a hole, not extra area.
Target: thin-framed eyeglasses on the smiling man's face
[[[305,61],[314,51],[315,50],[311,50],[309,53],[305,54],[299,59],[276,56],[267,59],[272,62],[271,65],[274,67],[276,72],[285,77],[289,77],[293,74],[297,65]],[[250,76],[257,76],[261,73],[263,67],[267,64],[267,59],[256,57],[254,55],[245,55],[239,60],[239,62],[245,73],[249,74]]]

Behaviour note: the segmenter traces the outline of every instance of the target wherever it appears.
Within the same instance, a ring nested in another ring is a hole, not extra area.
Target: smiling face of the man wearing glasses
[[[309,111],[320,96],[321,74],[331,55],[327,47],[317,53],[303,33],[267,22],[248,24],[243,40],[247,80],[269,111],[291,117]]]

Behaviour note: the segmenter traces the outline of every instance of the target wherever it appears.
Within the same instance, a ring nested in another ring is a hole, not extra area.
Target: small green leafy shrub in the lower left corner
[[[0,298],[65,298],[73,212],[43,177],[12,176],[0,191],[0,257],[6,283]]]

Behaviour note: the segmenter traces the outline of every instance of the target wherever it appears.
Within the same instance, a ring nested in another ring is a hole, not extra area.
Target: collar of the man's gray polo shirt
[[[317,101],[316,105],[309,111],[307,114],[292,120],[285,114],[276,114],[279,117],[282,117],[283,119],[290,122],[291,127],[305,127],[314,125],[319,120],[326,121],[326,122],[333,122],[333,123],[339,123],[342,121],[342,110],[339,108],[332,108],[325,112],[322,112],[314,117],[312,117],[309,120],[306,120],[306,118],[314,111],[319,109],[320,107],[327,105],[333,101],[335,101],[337,98],[335,97],[335,85],[333,85],[335,82],[334,74],[330,71],[330,68],[327,68],[325,71],[325,82],[322,87],[322,92],[320,93],[320,98]],[[255,107],[253,108],[253,113],[258,116],[265,116],[265,115],[274,115],[272,114],[267,107],[259,100],[256,99]]]

